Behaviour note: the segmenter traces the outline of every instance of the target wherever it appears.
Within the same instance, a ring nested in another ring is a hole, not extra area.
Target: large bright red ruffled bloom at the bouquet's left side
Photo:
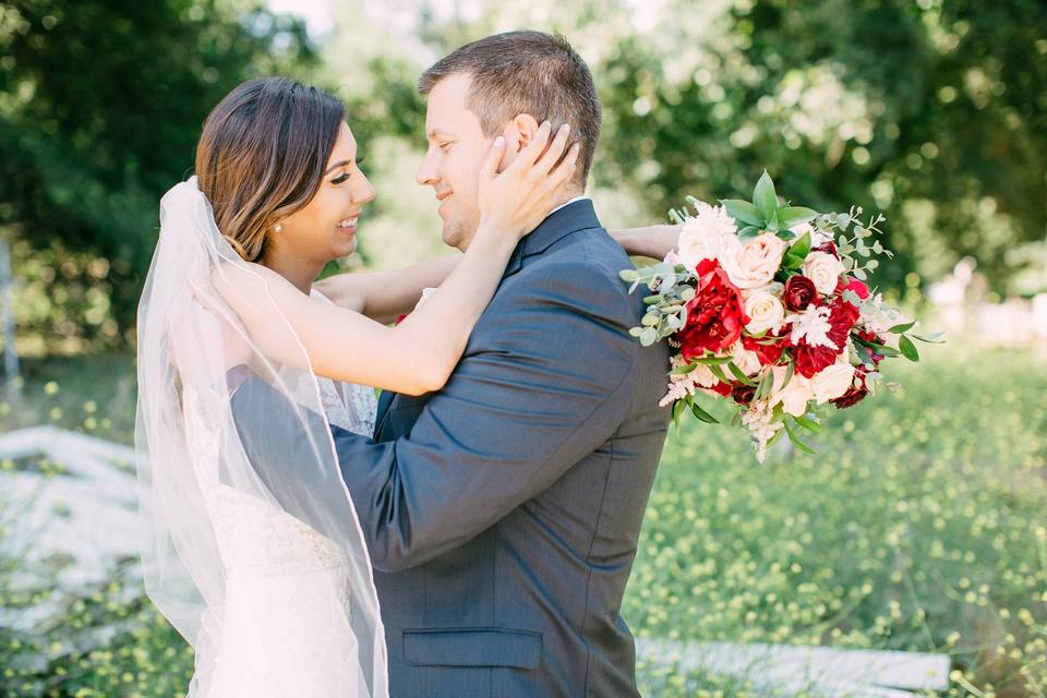
[[[685,360],[701,357],[707,350],[720,352],[742,336],[749,318],[742,293],[715,260],[698,263],[698,287],[687,303],[687,324],[676,333]]]

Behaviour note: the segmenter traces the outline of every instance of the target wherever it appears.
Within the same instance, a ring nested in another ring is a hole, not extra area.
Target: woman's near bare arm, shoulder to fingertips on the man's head
[[[519,239],[547,215],[574,172],[577,145],[554,167],[566,132],[557,133],[542,155],[547,142],[543,125],[501,174],[504,143],[492,147],[480,176],[480,227],[468,252],[429,301],[396,327],[311,299],[260,265],[224,265],[215,285],[250,339],[275,361],[305,368],[303,348],[320,375],[407,395],[438,389],[461,358]],[[289,341],[289,329],[301,347]]]

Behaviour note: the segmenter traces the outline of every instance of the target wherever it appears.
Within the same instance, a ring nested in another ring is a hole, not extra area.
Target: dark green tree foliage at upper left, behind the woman
[[[163,193],[234,85],[315,62],[301,22],[215,0],[0,7],[0,230],[111,261],[129,318]]]

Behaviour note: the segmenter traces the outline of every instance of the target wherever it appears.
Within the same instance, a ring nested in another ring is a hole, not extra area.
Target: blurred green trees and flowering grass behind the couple
[[[592,69],[605,225],[663,220],[686,194],[747,195],[766,168],[798,204],[883,212],[896,256],[875,282],[951,330],[903,369],[902,393],[834,416],[817,457],[758,468],[744,434],[671,436],[626,600],[637,635],[937,651],[956,667],[949,695],[1047,696],[1043,0],[4,2],[0,238],[23,371],[0,430],[130,443],[158,201],[191,173],[208,110],[248,77],[345,100],[378,192],[347,266],[443,253],[413,181],[414,80],[520,27],[564,33]],[[15,504],[0,490],[0,522]],[[14,543],[0,545],[0,600],[32,607],[49,591],[5,581]],[[63,599],[60,622],[0,627],[0,695],[184,695],[192,654],[135,585],[117,574]],[[84,645],[71,628],[111,631]],[[647,695],[758,695],[640,675]]]

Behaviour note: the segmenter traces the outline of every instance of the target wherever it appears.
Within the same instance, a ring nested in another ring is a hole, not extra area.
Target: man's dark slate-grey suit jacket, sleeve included
[[[591,202],[557,210],[514,253],[442,390],[384,394],[374,440],[333,428],[394,698],[637,695],[618,611],[669,358],[628,335],[643,308],[627,266]],[[251,456],[279,461],[274,448]]]

